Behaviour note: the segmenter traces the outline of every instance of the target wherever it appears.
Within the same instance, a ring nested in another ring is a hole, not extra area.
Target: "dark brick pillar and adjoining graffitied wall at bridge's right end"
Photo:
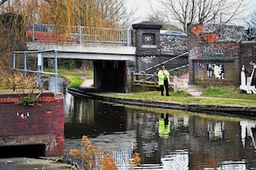
[[[187,36],[160,34],[160,25],[148,22],[132,26],[134,29],[135,46],[137,47],[136,71],[145,71],[168,59],[188,51]],[[174,59],[166,63],[166,68],[171,70],[177,66],[187,65],[188,56]],[[147,73],[154,73],[158,68],[148,70]]]

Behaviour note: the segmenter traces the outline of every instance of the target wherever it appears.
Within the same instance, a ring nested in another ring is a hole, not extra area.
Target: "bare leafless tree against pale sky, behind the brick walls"
[[[237,0],[159,0],[169,21],[176,20],[183,31],[190,22],[229,23],[243,10],[246,1]]]

